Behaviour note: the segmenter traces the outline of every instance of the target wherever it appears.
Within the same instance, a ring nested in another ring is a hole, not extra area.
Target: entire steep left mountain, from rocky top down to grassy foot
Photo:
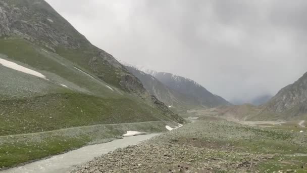
[[[0,136],[183,122],[43,0],[0,0]]]

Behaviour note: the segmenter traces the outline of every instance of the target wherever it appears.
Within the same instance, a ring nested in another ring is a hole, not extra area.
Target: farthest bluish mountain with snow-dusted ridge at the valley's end
[[[164,72],[152,73],[152,75],[169,88],[195,98],[199,105],[208,108],[220,105],[230,105],[228,101],[218,95],[212,94],[194,80]]]

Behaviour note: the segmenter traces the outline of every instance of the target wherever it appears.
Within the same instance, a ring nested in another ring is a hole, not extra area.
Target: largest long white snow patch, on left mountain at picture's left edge
[[[2,64],[3,66],[6,66],[8,68],[17,70],[17,71],[21,71],[21,72],[24,72],[24,73],[27,73],[27,74],[31,74],[33,76],[37,76],[37,77],[41,77],[43,79],[46,79],[46,76],[44,76],[43,74],[41,74],[37,71],[31,70],[29,68],[26,68],[24,66],[18,65],[14,62],[11,62],[11,61],[8,61],[8,60],[2,59],[2,58],[0,58],[0,64]]]

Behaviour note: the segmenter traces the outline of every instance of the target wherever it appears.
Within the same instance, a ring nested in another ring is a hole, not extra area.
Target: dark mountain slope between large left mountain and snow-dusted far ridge
[[[176,113],[185,113],[188,109],[203,107],[195,98],[169,88],[154,76],[144,73],[133,66],[126,66],[126,68],[142,82],[151,95],[155,95]]]

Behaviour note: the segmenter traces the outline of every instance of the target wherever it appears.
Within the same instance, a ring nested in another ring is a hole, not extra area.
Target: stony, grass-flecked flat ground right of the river
[[[307,172],[306,142],[302,127],[197,121],[71,172]]]

